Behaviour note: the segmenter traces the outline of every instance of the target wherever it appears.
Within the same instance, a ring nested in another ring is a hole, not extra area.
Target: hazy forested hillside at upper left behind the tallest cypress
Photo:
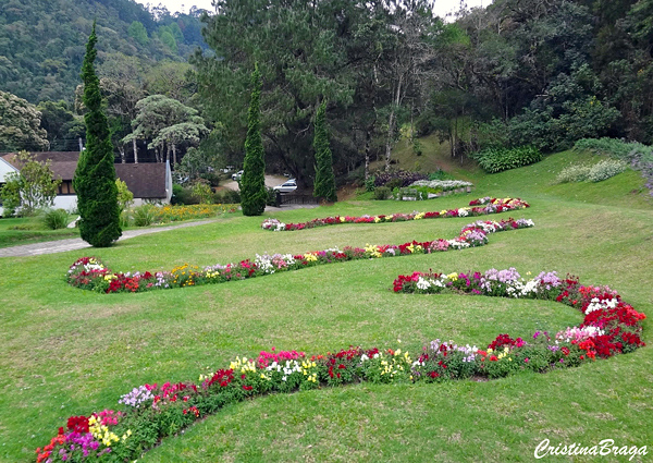
[[[148,11],[133,0],[0,0],[0,90],[32,103],[72,103],[94,19],[99,64],[133,57],[143,71],[206,47],[200,15]]]

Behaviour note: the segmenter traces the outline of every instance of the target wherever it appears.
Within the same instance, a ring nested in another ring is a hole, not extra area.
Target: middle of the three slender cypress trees
[[[251,99],[247,113],[245,162],[241,179],[241,207],[245,216],[260,216],[266,210],[266,159],[260,126],[261,74],[255,64],[251,73]]]

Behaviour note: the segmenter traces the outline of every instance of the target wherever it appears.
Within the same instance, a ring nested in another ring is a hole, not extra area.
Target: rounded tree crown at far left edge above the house
[[[0,151],[47,149],[47,133],[40,127],[40,119],[34,105],[0,90]]]

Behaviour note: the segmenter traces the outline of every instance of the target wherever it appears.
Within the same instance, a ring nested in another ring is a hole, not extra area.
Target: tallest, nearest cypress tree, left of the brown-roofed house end
[[[79,154],[73,185],[77,193],[82,239],[91,246],[107,247],[120,237],[122,230],[109,124],[102,110],[100,82],[93,66],[97,54],[95,31],[94,22],[82,64],[83,100],[87,109],[84,115],[86,149]]]

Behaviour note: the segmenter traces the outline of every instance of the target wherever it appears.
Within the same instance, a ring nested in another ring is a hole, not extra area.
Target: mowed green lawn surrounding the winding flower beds
[[[480,248],[112,295],[64,283],[67,267],[84,255],[79,252],[0,259],[0,459],[29,461],[34,449],[47,443],[69,416],[115,407],[119,397],[135,386],[197,380],[207,367],[224,367],[236,355],[255,356],[272,346],[308,353],[350,344],[417,351],[435,338],[485,345],[502,332],[526,337],[535,329],[555,331],[581,320],[579,313],[554,303],[394,294],[392,280],[399,273],[510,266],[522,275],[557,270],[586,283],[608,284],[652,316],[653,209],[641,195],[630,193],[638,185],[629,182],[638,178],[612,179],[611,196],[602,202],[595,192],[576,193],[576,185],[551,186],[549,180],[557,172],[546,162],[563,161],[554,156],[497,175],[472,174],[478,175],[477,191],[467,196],[350,202],[275,215],[304,221],[336,214],[440,210],[483,195],[519,195],[531,203],[530,209],[512,215],[532,218],[535,228],[493,234]],[[471,221],[273,233],[260,229],[261,220],[227,216],[93,254],[114,270],[171,269],[264,252],[449,239]],[[648,341],[650,333],[651,322],[645,320]],[[579,368],[488,382],[366,383],[256,398],[164,440],[139,461],[531,461],[545,438],[554,446],[593,446],[611,438],[618,446],[651,450],[652,371],[653,354],[644,348]]]

